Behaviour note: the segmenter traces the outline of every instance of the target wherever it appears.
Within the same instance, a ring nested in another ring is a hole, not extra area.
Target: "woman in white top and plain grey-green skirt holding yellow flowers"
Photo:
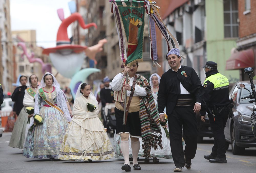
[[[25,110],[25,107],[33,107],[35,106],[34,97],[37,92],[37,76],[32,74],[29,79],[30,87],[25,90],[25,95],[23,99],[23,109],[21,109],[19,116],[16,120],[16,123],[13,128],[12,136],[9,142],[9,146],[13,148],[24,148],[24,144],[27,137],[27,130],[29,124],[28,118],[33,115],[28,115],[28,113]]]

